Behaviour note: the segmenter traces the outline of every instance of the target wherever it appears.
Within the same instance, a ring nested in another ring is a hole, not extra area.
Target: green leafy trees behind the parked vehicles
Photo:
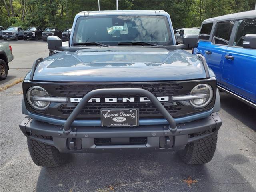
[[[118,0],[119,10],[165,10],[174,28],[199,27],[206,18],[254,10],[255,0]],[[98,10],[98,0],[0,0],[0,26],[71,27],[80,11]],[[100,0],[116,10],[116,0]]]

